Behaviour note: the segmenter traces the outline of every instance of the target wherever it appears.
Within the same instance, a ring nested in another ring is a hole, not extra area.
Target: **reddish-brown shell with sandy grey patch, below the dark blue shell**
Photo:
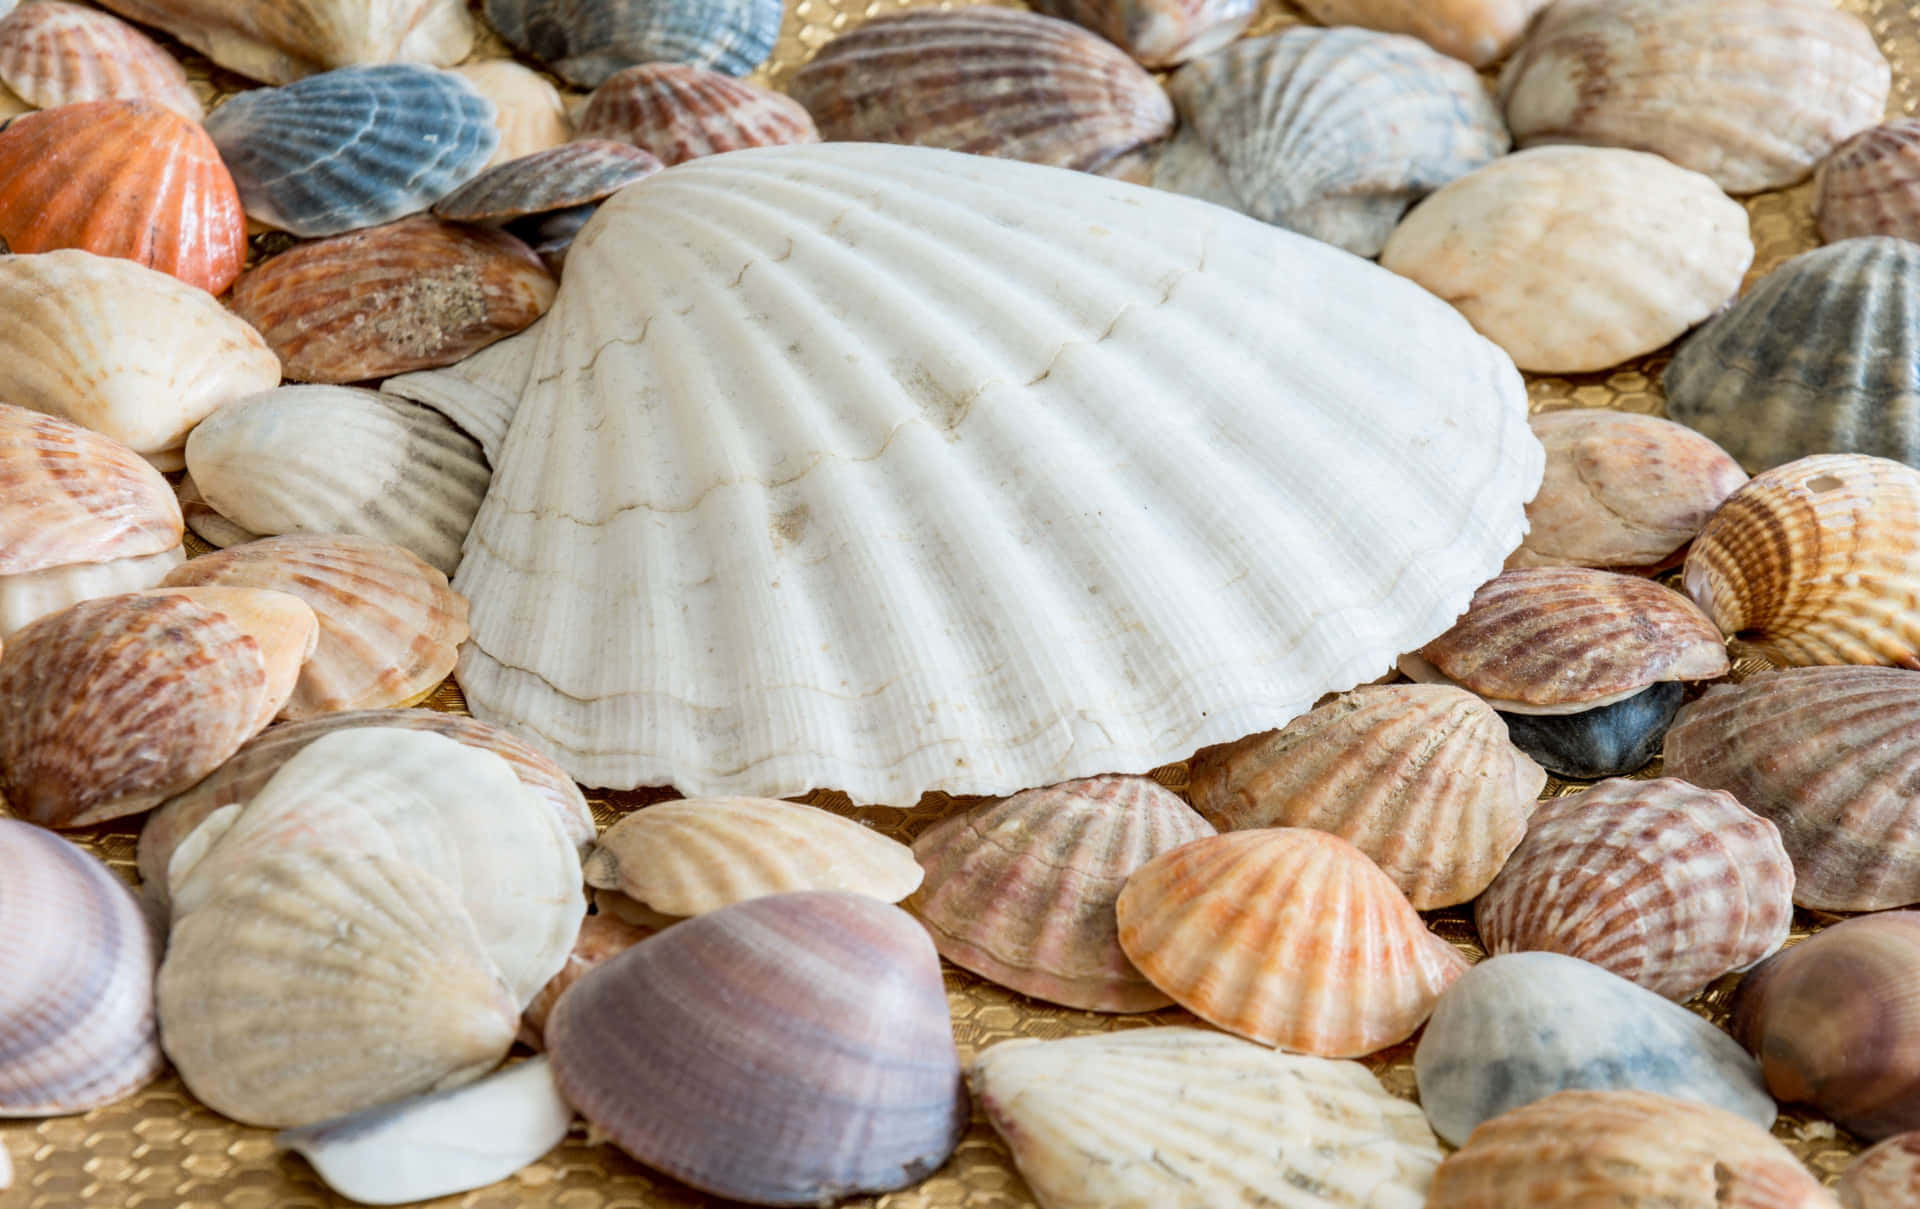
[[[359,382],[453,365],[540,319],[553,290],[520,240],[420,215],[282,251],[232,307],[288,378]]]

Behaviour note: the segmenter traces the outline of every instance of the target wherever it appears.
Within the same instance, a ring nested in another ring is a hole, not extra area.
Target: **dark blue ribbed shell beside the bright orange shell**
[[[205,125],[246,213],[307,238],[419,213],[480,175],[499,144],[493,102],[413,63],[242,92]]]

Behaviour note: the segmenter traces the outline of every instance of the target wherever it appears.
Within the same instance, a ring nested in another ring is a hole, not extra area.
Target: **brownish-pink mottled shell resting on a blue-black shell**
[[[1559,566],[1501,572],[1421,658],[1515,712],[1584,710],[1728,670],[1720,631],[1680,593]]]

